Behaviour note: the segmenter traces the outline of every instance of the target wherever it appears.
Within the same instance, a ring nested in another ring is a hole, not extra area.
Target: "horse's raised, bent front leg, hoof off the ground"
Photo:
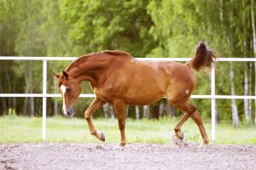
[[[97,139],[100,139],[102,141],[105,141],[105,135],[101,131],[96,131],[96,128],[93,126],[93,123],[91,121],[91,114],[96,111],[96,109],[99,109],[104,105],[106,102],[98,99],[97,97],[92,101],[89,108],[84,113],[84,118],[86,122],[88,123],[90,134],[96,136]]]

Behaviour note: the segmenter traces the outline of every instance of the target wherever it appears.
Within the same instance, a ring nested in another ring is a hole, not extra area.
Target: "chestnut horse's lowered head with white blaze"
[[[67,71],[54,75],[58,79],[58,89],[63,100],[62,113],[64,116],[73,116],[73,105],[81,93],[79,82],[76,78],[68,76]]]

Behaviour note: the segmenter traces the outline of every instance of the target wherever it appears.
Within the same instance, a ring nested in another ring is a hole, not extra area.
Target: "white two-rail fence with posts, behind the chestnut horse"
[[[43,61],[43,94],[0,94],[0,97],[38,97],[43,98],[43,123],[42,138],[46,139],[46,100],[49,97],[61,97],[61,94],[47,94],[47,61],[48,60],[74,60],[75,57],[11,57],[3,56],[0,60],[42,60]],[[138,60],[166,60],[166,61],[188,61],[190,58],[137,58]],[[217,61],[253,61],[255,58],[219,58]],[[80,94],[83,98],[93,98],[95,94]],[[215,105],[216,99],[256,99],[256,96],[239,96],[239,95],[215,95],[215,68],[212,65],[211,72],[211,95],[192,95],[194,99],[211,99],[212,102],[212,141],[215,141]]]

